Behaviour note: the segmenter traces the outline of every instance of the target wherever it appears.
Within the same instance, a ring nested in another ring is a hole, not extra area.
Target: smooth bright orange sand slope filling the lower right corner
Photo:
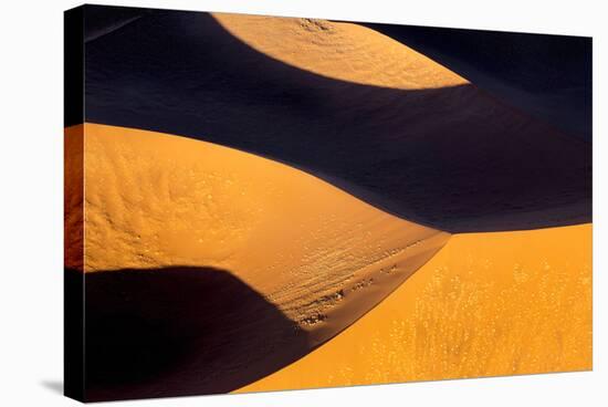
[[[345,332],[241,389],[591,368],[591,225],[453,236]]]

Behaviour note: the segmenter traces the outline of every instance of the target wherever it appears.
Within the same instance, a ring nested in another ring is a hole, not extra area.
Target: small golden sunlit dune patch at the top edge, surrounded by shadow
[[[323,76],[403,90],[469,83],[412,49],[358,24],[245,14],[213,17],[256,51]]]

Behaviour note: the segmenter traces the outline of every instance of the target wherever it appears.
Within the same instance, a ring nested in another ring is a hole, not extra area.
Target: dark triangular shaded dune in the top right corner
[[[475,85],[591,142],[591,38],[373,24]]]

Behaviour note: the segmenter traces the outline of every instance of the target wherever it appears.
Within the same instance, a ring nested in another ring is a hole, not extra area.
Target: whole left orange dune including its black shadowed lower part
[[[335,336],[449,238],[283,164],[185,137],[85,124],[84,163],[87,369],[99,400],[237,389]]]

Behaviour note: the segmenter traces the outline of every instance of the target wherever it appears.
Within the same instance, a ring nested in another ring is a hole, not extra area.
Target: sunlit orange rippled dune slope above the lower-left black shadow
[[[151,132],[86,124],[85,180],[86,272],[229,270],[297,322],[311,346],[448,239],[285,165]]]

